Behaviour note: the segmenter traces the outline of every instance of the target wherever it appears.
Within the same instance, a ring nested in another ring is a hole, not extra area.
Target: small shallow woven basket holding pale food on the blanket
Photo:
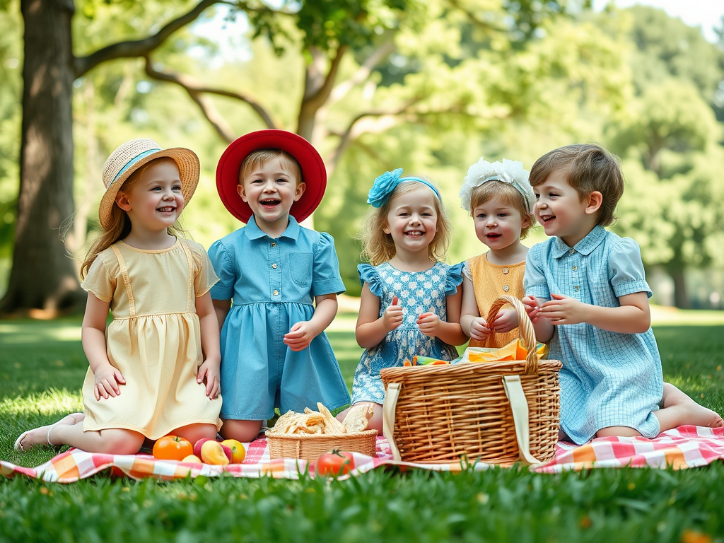
[[[316,462],[319,455],[330,450],[348,450],[363,455],[376,455],[376,430],[354,434],[274,434],[266,432],[270,458],[298,458]]]

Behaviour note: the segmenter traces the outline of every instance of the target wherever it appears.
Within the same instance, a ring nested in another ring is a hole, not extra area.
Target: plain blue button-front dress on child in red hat
[[[283,342],[291,327],[308,321],[315,296],[345,287],[332,236],[289,226],[272,239],[248,224],[214,242],[209,257],[219,282],[214,300],[232,300],[221,333],[221,417],[261,421],[274,407],[330,410],[350,403],[339,363],[322,332],[308,348],[294,352]]]

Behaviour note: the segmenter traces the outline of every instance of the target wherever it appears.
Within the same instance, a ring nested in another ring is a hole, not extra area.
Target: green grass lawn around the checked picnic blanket
[[[361,353],[354,319],[341,313],[329,331],[348,385]],[[724,412],[724,314],[663,312],[654,332],[665,379]],[[87,367],[80,319],[0,321],[0,458],[51,458],[49,448],[21,455],[12,445],[22,429],[81,408]],[[331,482],[0,478],[0,541],[724,542],[723,480],[720,462],[678,472],[372,471]]]

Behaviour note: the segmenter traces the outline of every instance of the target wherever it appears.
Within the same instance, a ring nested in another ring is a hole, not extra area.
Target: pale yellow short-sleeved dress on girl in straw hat
[[[85,432],[122,428],[159,439],[187,424],[221,427],[221,396],[209,400],[196,382],[203,353],[195,298],[217,280],[206,251],[187,240],[161,251],[119,241],[98,255],[81,286],[111,303],[106,349],[126,384],[117,397],[96,400],[88,369]]]

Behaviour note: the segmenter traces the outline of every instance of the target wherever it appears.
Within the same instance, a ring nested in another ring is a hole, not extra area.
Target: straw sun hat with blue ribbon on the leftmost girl
[[[113,226],[111,209],[115,205],[118,190],[128,179],[128,176],[144,164],[164,156],[173,159],[178,165],[181,193],[184,202],[188,203],[196,190],[198,176],[201,172],[201,165],[196,153],[183,147],[162,149],[155,141],[145,138],[130,140],[113,151],[103,166],[103,184],[106,185],[106,193],[101,199],[98,219],[100,219],[101,227],[104,230],[110,230]]]

